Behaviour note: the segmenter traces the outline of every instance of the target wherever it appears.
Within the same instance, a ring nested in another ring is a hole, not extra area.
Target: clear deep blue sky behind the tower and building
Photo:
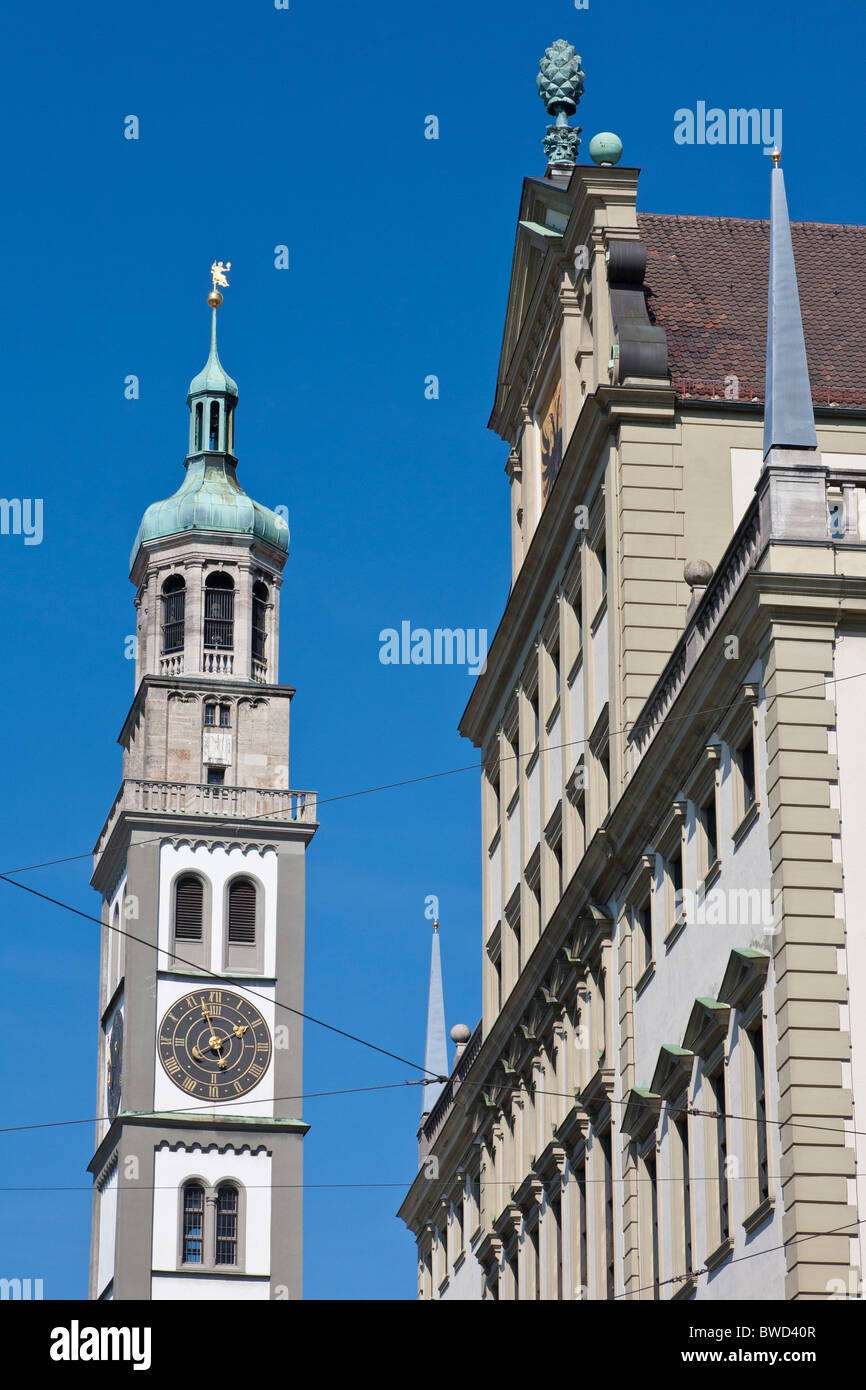
[[[765,217],[755,147],[681,146],[674,111],[781,107],[791,215],[866,221],[863,19],[802,0],[713,10],[589,0],[375,6],[44,3],[7,15],[3,481],[42,498],[42,545],[0,537],[0,872],[88,852],[120,783],[132,698],[128,556],[174,492],[207,268],[231,260],[221,356],[239,475],[289,509],[281,678],[292,785],[322,798],[471,763],[471,680],[382,666],[378,634],[487,627],[509,585],[505,445],[485,430],[520,181],[544,174],[538,58],[574,42],[577,124],[616,131],[648,211]],[[852,31],[860,32],[852,32]],[[840,43],[840,36],[847,35]],[[140,139],[124,139],[124,118]],[[439,139],[424,139],[424,118]],[[289,270],[274,247],[289,247]],[[438,400],[424,396],[436,374]],[[140,398],[124,399],[135,374]],[[97,912],[90,865],[22,881]],[[478,777],[322,806],[309,853],[306,1006],[423,1061],[428,894],[448,1026],[480,1012]],[[0,883],[4,1125],[95,1113],[97,927]],[[306,1090],[413,1073],[306,1031]],[[395,1219],[418,1088],[311,1099],[310,1298],[411,1298]],[[86,1188],[89,1126],[0,1136],[3,1187]],[[90,1198],[0,1191],[0,1275],[85,1297]]]

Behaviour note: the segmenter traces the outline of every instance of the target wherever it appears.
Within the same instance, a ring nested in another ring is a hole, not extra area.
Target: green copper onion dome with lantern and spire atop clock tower
[[[186,477],[171,498],[153,502],[138,530],[131,569],[146,541],[161,541],[188,531],[249,535],[288,553],[286,521],[246,495],[238,482],[234,456],[238,386],[222,368],[217,353],[217,296],[210,297],[213,322],[210,356],[189,386],[189,453]],[[218,296],[220,303],[222,296]]]

